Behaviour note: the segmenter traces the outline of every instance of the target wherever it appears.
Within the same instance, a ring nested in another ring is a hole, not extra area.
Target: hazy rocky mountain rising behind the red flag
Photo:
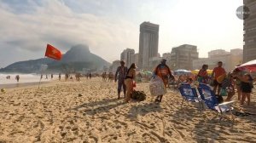
[[[76,45],[63,54],[61,60],[52,60],[49,58],[38,60],[19,61],[6,66],[0,72],[39,72],[41,65],[48,65],[48,72],[74,72],[83,69],[101,70],[110,66],[108,61],[100,56],[90,53],[87,45]]]

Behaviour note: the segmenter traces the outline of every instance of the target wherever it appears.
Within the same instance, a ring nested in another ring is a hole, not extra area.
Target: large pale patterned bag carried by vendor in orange
[[[153,96],[166,94],[166,87],[163,80],[158,76],[151,78],[149,82],[149,91]]]

